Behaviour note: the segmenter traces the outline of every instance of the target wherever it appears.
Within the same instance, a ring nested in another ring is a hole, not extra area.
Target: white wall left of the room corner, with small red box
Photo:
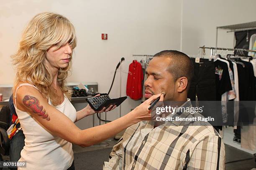
[[[128,71],[133,54],[155,54],[179,49],[181,1],[176,0],[8,0],[0,3],[0,84],[12,84],[15,71],[10,55],[17,50],[22,30],[37,13],[60,13],[74,24],[78,45],[73,73],[68,82],[98,82],[100,92],[108,92],[115,66],[125,57],[122,69]],[[108,33],[108,40],[101,40]],[[120,72],[110,97],[120,95]],[[127,73],[122,73],[122,96],[126,95]],[[126,100],[122,115],[140,101]],[[108,113],[113,120],[119,109]],[[88,118],[89,119],[89,118]],[[87,119],[87,122],[91,121]],[[84,125],[83,127],[90,127]]]

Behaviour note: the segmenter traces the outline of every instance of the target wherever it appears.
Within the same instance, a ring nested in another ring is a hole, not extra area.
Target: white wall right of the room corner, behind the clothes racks
[[[182,51],[190,55],[198,54],[199,46],[215,47],[216,27],[256,20],[255,0],[182,1]],[[233,48],[233,37],[233,32],[219,30],[218,47]]]

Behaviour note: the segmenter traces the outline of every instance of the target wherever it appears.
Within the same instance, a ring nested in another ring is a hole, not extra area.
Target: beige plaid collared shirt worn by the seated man
[[[183,107],[192,107],[190,100]],[[189,112],[179,117],[194,117]],[[201,115],[200,115],[201,116]],[[202,125],[203,124],[203,125]],[[224,170],[225,146],[208,123],[139,122],[125,130],[103,170]]]

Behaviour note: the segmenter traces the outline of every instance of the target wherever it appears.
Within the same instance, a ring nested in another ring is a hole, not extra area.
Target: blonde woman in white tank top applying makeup
[[[13,101],[26,137],[19,161],[26,161],[28,170],[73,170],[72,143],[90,146],[139,121],[150,120],[148,107],[160,96],[152,96],[113,122],[80,130],[74,122],[95,111],[87,105],[76,112],[69,101],[71,89],[65,81],[76,44],[74,26],[67,18],[41,13],[28,23],[18,52],[12,56],[17,68]]]

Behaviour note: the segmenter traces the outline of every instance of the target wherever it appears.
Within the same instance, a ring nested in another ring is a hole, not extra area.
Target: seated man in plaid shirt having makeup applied
[[[161,51],[149,62],[146,74],[146,98],[164,90],[164,101],[183,101],[183,107],[192,107],[187,92],[194,68],[187,55]],[[189,112],[178,115],[192,116]],[[144,121],[126,129],[103,169],[223,170],[225,146],[208,122],[197,125],[195,121],[174,120],[156,127],[153,121]]]

